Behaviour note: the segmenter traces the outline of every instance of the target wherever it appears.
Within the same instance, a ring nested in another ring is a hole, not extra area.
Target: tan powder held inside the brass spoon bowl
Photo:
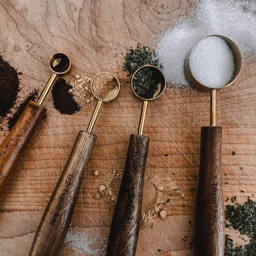
[[[93,82],[93,92],[98,98],[105,99],[116,86],[118,86],[118,82],[113,75],[110,73],[102,73],[99,74]]]

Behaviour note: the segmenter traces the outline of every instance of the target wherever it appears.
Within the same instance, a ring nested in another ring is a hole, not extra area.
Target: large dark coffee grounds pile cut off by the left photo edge
[[[10,112],[19,90],[17,71],[0,56],[0,117],[3,118]]]

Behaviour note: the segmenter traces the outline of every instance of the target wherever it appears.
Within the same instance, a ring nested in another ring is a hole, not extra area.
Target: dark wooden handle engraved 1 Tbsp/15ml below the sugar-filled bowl
[[[224,256],[221,127],[201,128],[201,150],[195,206],[195,256]]]

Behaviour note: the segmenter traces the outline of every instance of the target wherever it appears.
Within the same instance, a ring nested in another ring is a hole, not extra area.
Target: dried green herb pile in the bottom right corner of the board
[[[225,235],[225,256],[256,256],[256,202],[248,199],[244,205],[227,205],[225,219],[231,224],[226,224],[226,228],[232,226],[241,235],[247,235],[250,243],[234,247],[230,235]]]

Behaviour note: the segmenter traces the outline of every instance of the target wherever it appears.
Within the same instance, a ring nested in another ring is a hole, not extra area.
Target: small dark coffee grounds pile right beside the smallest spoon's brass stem
[[[61,77],[52,87],[52,98],[54,107],[61,114],[72,115],[80,110],[79,105],[73,99],[73,95],[69,92],[72,87]]]

